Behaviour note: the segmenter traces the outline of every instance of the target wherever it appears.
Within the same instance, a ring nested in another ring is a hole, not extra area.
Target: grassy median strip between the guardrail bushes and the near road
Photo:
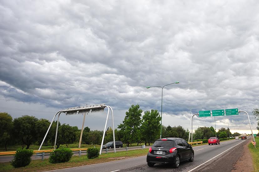
[[[69,162],[51,164],[48,159],[41,160],[32,160],[31,163],[26,167],[14,168],[10,162],[0,163],[0,171],[13,171],[13,172],[33,172],[33,171],[48,171],[48,170],[58,170],[70,167],[78,167],[83,165],[98,164],[103,162],[109,162],[114,160],[123,160],[127,158],[147,155],[148,149],[144,150],[128,150],[120,151],[116,153],[102,153],[96,159],[88,159],[86,155],[73,156]]]

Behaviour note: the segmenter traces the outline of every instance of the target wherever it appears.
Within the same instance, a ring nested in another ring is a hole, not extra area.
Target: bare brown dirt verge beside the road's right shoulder
[[[252,171],[254,171],[251,152],[248,149],[248,144],[250,144],[250,140],[251,139],[247,140],[246,144],[243,145],[244,153],[233,165],[234,169],[231,170],[231,172],[252,172]]]

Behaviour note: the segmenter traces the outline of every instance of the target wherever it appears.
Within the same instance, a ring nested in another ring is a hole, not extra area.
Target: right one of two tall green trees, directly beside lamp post
[[[157,110],[145,111],[142,117],[141,135],[145,140],[145,145],[150,145],[150,142],[159,138],[161,117]]]

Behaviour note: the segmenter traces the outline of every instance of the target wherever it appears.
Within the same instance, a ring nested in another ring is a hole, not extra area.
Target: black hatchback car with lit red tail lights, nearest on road
[[[194,160],[194,150],[184,139],[181,138],[163,138],[158,139],[149,148],[147,162],[149,167],[154,164],[172,164],[178,168],[180,162]]]

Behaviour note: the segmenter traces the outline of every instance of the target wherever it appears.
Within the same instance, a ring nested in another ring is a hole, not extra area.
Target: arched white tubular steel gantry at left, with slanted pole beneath
[[[46,139],[46,136],[48,135],[48,132],[49,132],[49,129],[55,119],[55,117],[58,115],[58,120],[57,120],[57,128],[56,128],[56,135],[55,135],[55,143],[54,143],[54,150],[56,149],[56,143],[57,143],[57,134],[58,134],[58,127],[59,127],[59,117],[60,117],[60,114],[63,112],[65,113],[66,115],[73,115],[73,114],[88,114],[88,113],[93,113],[93,112],[99,112],[99,111],[104,111],[104,108],[107,107],[108,108],[108,113],[107,113],[107,117],[106,117],[106,122],[105,122],[105,127],[104,127],[104,130],[103,130],[103,136],[102,136],[102,142],[101,142],[101,149],[100,149],[100,154],[101,154],[101,150],[102,150],[102,145],[103,145],[103,141],[104,141],[104,135],[105,135],[105,132],[106,132],[106,125],[107,125],[107,121],[108,121],[108,116],[109,116],[109,113],[110,113],[110,109],[111,109],[111,118],[112,118],[112,130],[113,130],[113,145],[114,145],[114,153],[116,152],[116,148],[115,148],[115,134],[114,134],[114,122],[113,122],[113,110],[111,108],[111,106],[106,106],[105,104],[101,104],[101,105],[96,105],[96,106],[83,106],[83,107],[72,107],[72,108],[68,108],[68,109],[65,109],[65,110],[61,110],[61,111],[58,111],[50,125],[49,125],[49,128],[44,136],[44,139],[42,140],[42,143],[39,147],[39,150],[41,149],[43,143],[44,143],[44,140]],[[84,115],[84,120],[83,120],[83,125],[82,125],[82,130],[81,130],[81,135],[80,135],[80,141],[79,141],[79,146],[81,145],[81,139],[82,139],[82,131],[83,131],[83,126],[84,126],[84,122],[85,122],[85,115]]]

